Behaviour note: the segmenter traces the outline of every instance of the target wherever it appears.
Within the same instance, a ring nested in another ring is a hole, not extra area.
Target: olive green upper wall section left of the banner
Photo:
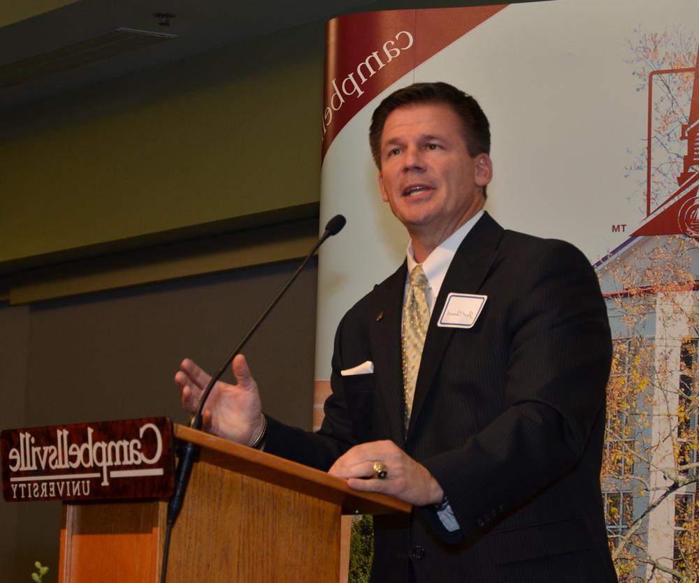
[[[0,114],[0,272],[317,214],[323,46],[307,24]]]

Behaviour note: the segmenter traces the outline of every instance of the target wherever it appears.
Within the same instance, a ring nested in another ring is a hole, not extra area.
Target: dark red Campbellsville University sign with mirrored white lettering
[[[6,429],[3,496],[8,502],[167,498],[172,435],[166,417]]]

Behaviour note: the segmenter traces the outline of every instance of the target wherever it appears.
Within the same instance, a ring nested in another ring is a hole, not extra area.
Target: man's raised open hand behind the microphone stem
[[[206,431],[236,443],[250,445],[261,431],[262,404],[250,368],[242,354],[233,359],[233,375],[238,384],[218,381],[212,389],[203,411]],[[194,413],[201,393],[211,376],[188,358],[182,360],[175,374],[175,384],[182,392],[182,407]]]

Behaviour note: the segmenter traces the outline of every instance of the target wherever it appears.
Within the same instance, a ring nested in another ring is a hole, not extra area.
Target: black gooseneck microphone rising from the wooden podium
[[[255,330],[257,330],[259,325],[264,322],[265,318],[272,311],[273,307],[275,307],[275,305],[277,305],[277,302],[279,302],[279,300],[282,299],[282,295],[286,293],[287,289],[289,289],[289,286],[291,286],[291,283],[294,283],[294,280],[298,277],[298,274],[301,273],[303,267],[305,267],[306,263],[308,263],[310,258],[313,256],[313,253],[317,251],[318,247],[321,246],[326,241],[326,239],[340,233],[340,230],[342,230],[342,228],[345,226],[345,223],[347,223],[347,219],[345,219],[345,217],[341,214],[336,214],[335,216],[333,216],[332,219],[328,221],[328,223],[325,226],[325,232],[317,240],[316,244],[305,257],[301,265],[298,266],[294,274],[292,274],[291,277],[289,277],[289,281],[287,281],[287,283],[284,283],[284,286],[282,286],[282,288],[279,290],[277,295],[275,295],[273,300],[269,302],[268,306],[262,312],[262,315],[257,319],[257,322],[255,322],[252,325],[252,327],[250,328],[250,330],[247,331],[247,334],[245,334],[243,339],[241,339],[240,342],[238,342],[238,346],[236,346],[236,348],[233,349],[233,352],[226,359],[226,362],[224,362],[224,364],[222,364],[218,371],[216,371],[216,374],[211,377],[211,380],[209,381],[208,385],[206,385],[206,389],[204,389],[204,392],[201,394],[201,399],[199,399],[199,406],[197,406],[194,415],[192,415],[192,419],[189,420],[189,427],[192,427],[193,429],[201,429],[201,426],[203,425],[202,413],[204,410],[204,404],[206,403],[206,399],[208,399],[208,396],[211,390],[213,389],[214,385],[217,383],[219,378],[221,378],[226,369],[228,369],[228,367],[231,365],[231,362],[233,362],[233,358],[235,358],[236,355],[240,353],[240,350],[243,350],[243,346],[247,344],[247,341],[250,340],[250,337],[252,337],[252,334],[254,334]],[[199,455],[199,447],[197,445],[194,445],[194,443],[187,442],[187,445],[185,445],[185,448],[183,449],[182,454],[180,455],[180,460],[177,464],[177,469],[175,470],[175,491],[173,493],[172,498],[170,499],[170,502],[168,503],[167,529],[165,533],[163,565],[161,569],[161,582],[163,583],[166,580],[168,547],[170,546],[170,533],[173,525],[175,524],[175,520],[177,520],[177,517],[180,514],[180,510],[182,509],[182,502],[185,500],[185,492],[187,492],[189,476],[192,475],[192,466],[194,466],[194,459],[197,457],[197,455]]]

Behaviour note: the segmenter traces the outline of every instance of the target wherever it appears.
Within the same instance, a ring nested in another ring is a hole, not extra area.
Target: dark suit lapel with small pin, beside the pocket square
[[[375,318],[370,323],[370,343],[375,355],[374,377],[389,420],[394,442],[403,447],[403,368],[401,364],[401,313],[405,277],[405,262],[381,284],[375,302]]]

